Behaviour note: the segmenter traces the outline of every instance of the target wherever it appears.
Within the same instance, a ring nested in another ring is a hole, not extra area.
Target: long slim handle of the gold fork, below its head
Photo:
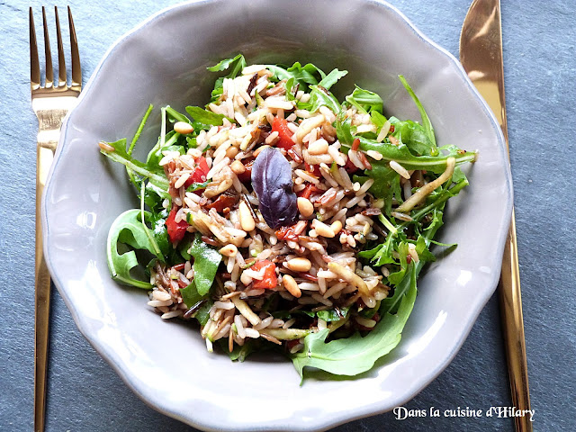
[[[44,430],[46,407],[46,371],[49,346],[50,275],[44,259],[40,205],[54,153],[51,148],[36,150],[36,257],[34,266],[35,329],[34,329],[34,431]]]

